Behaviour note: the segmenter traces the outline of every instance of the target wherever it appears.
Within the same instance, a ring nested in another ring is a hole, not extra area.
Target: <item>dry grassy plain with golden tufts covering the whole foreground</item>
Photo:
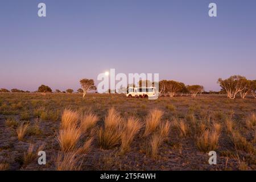
[[[45,89],[0,94],[0,170],[256,169],[251,95],[145,100]],[[42,141],[46,165],[36,161]],[[208,164],[212,150],[218,165]]]

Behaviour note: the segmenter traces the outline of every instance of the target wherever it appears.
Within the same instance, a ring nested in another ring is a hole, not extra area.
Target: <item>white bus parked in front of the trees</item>
[[[150,98],[156,97],[158,92],[156,92],[156,88],[151,87],[129,87],[127,88],[126,97],[142,97],[142,98]]]

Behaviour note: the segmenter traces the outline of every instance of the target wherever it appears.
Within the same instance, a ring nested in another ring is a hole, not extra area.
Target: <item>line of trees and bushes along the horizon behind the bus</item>
[[[137,86],[154,86],[158,85],[159,95],[165,97],[175,97],[177,95],[183,96],[183,94],[190,94],[191,97],[196,97],[198,93],[200,94],[227,94],[228,98],[234,99],[237,94],[240,94],[241,98],[245,98],[247,95],[251,94],[254,98],[256,98],[256,80],[248,80],[246,77],[240,75],[230,76],[225,80],[222,78],[218,78],[218,84],[220,84],[221,90],[216,92],[210,90],[209,92],[205,92],[204,86],[202,85],[185,85],[183,82],[178,82],[174,80],[161,80],[156,84],[155,82],[151,82],[149,80],[141,80],[138,82]],[[93,79],[84,78],[80,80],[81,88],[77,90],[77,93],[83,93],[83,97],[89,90],[97,90],[94,85]],[[127,85],[127,87],[134,87],[135,84]],[[111,92],[109,89],[107,93],[126,93],[127,88],[121,88],[118,91],[114,90]],[[29,91],[23,91],[19,89],[0,89],[0,92],[13,92],[13,93],[29,93]],[[73,93],[73,89],[67,89],[65,91],[60,91],[56,89],[54,93]],[[39,86],[38,90],[35,93],[53,93],[52,89],[47,85]]]

